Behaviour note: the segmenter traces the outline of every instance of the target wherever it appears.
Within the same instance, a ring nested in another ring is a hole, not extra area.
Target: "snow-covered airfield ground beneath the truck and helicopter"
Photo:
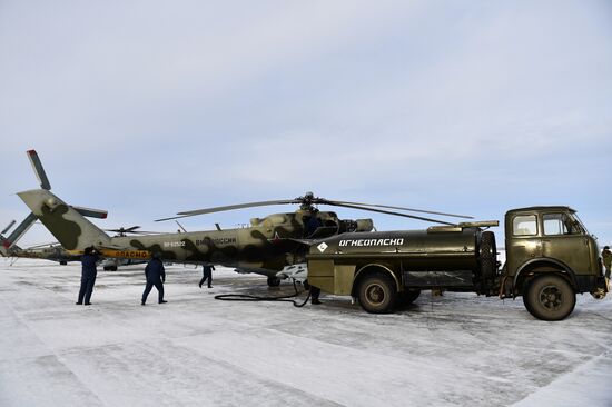
[[[612,299],[536,320],[522,301],[424,292],[394,315],[349,298],[280,295],[265,278],[169,266],[165,305],[140,306],[142,266],[99,271],[76,306],[80,265],[0,259],[1,406],[612,406]]]

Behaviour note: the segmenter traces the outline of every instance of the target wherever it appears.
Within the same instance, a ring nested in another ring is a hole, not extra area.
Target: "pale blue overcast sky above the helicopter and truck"
[[[102,227],[312,190],[481,220],[569,205],[612,245],[610,1],[2,0],[0,61],[2,226],[36,149]]]

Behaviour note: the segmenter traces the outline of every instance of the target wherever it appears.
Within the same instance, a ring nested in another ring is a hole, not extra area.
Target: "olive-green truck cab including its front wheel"
[[[502,296],[523,297],[535,317],[559,320],[575,306],[575,294],[608,292],[598,244],[570,207],[529,207],[505,216],[506,265]]]

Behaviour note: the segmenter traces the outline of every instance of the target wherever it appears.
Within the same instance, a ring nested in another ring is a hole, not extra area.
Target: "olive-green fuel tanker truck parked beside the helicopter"
[[[575,210],[563,206],[513,209],[505,215],[503,267],[497,220],[426,230],[347,232],[318,240],[307,255],[308,284],[357,298],[367,312],[392,312],[421,290],[522,297],[529,312],[561,320],[576,294],[609,291],[596,240]]]

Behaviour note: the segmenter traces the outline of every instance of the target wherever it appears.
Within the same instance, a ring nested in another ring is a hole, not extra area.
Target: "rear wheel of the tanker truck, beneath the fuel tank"
[[[397,299],[395,281],[384,274],[366,276],[359,284],[359,304],[371,314],[393,311]]]

